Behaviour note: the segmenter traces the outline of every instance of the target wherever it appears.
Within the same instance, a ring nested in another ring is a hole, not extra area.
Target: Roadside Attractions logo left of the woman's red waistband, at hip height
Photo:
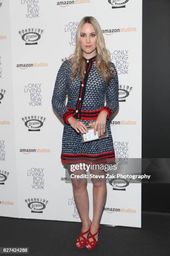
[[[29,115],[21,118],[25,126],[28,128],[28,131],[40,131],[40,128],[44,124],[46,118],[39,115]]]

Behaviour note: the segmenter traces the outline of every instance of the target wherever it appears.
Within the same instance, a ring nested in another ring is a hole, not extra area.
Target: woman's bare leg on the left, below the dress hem
[[[70,171],[70,165],[68,165],[68,171],[70,174],[86,174],[85,170],[75,170],[74,172]],[[73,188],[73,195],[75,199],[75,203],[77,206],[77,210],[79,212],[81,221],[82,221],[82,228],[81,233],[87,231],[90,228],[90,218],[89,218],[89,197],[87,192],[87,179],[72,179],[72,188]],[[85,234],[85,238],[87,238],[88,234]],[[80,240],[83,239],[80,237]],[[76,243],[77,246],[80,246],[79,243]]]

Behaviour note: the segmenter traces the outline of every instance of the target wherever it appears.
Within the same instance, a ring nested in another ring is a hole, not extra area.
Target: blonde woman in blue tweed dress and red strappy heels
[[[67,105],[64,105],[65,96]],[[104,97],[106,105],[104,106]],[[115,161],[109,117],[118,108],[118,78],[115,65],[110,61],[99,23],[94,17],[82,18],[76,31],[75,53],[64,61],[57,73],[52,107],[64,120],[61,161],[72,173],[72,164],[80,168],[74,174],[85,174],[82,163],[101,164]],[[82,142],[81,134],[87,125],[94,125],[94,134],[102,136],[107,127],[108,137]],[[90,169],[92,174],[104,174],[100,168]],[[77,248],[92,250],[98,243],[100,218],[105,204],[107,187],[105,177],[92,179],[93,219],[89,219],[87,179],[73,179],[73,195],[82,220]]]

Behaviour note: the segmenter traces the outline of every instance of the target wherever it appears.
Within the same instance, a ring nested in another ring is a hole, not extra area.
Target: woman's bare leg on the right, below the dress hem
[[[90,170],[91,174],[95,175],[104,175],[105,171],[103,172],[100,169],[97,170]],[[106,197],[107,197],[107,186],[106,186],[106,179],[92,179],[93,183],[93,219],[92,219],[92,225],[90,227],[90,231],[92,234],[95,234],[97,232],[97,229],[99,227],[100,218],[102,215],[102,210],[105,205]],[[96,240],[98,240],[98,233],[95,236]],[[90,238],[90,241],[93,241],[92,238]],[[86,247],[90,247],[89,244],[87,244]]]

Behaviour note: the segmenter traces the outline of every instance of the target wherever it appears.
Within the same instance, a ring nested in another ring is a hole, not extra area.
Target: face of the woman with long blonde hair
[[[97,35],[91,23],[83,24],[80,31],[80,45],[82,51],[91,54],[97,47]]]

